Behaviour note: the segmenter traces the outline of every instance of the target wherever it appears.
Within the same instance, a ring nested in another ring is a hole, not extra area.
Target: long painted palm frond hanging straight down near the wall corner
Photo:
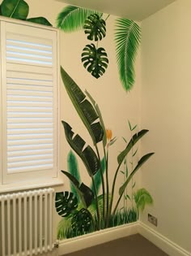
[[[135,80],[134,62],[141,39],[141,30],[133,20],[123,18],[116,22],[116,53],[121,83],[125,91],[132,89]]]

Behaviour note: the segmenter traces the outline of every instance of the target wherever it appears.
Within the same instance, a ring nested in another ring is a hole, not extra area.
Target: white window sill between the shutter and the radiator
[[[0,184],[0,193],[11,193],[28,189],[41,189],[61,185],[63,185],[63,181],[58,179],[43,180],[43,182],[40,183],[34,183],[33,181],[33,183],[25,182],[18,184]]]

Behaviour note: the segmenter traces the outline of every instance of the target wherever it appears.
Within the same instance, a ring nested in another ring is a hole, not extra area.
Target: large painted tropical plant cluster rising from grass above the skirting
[[[138,218],[138,210],[129,208],[125,210],[125,214],[123,213],[121,215],[119,204],[126,187],[130,184],[135,173],[154,153],[145,154],[138,160],[134,169],[126,176],[124,183],[121,185],[115,205],[113,203],[113,197],[116,189],[117,176],[122,163],[124,163],[134,145],[146,135],[148,130],[142,129],[140,132],[134,133],[127,145],[125,145],[125,149],[117,156],[118,166],[117,170],[114,171],[113,181],[110,185],[108,181],[108,153],[110,146],[115,143],[116,137],[112,138],[111,130],[105,128],[100,107],[91,95],[87,91],[83,93],[62,67],[61,74],[66,92],[79,118],[87,128],[93,146],[87,145],[85,139],[78,133],[75,133],[70,124],[62,121],[66,141],[75,154],[83,161],[84,167],[86,167],[87,173],[91,178],[91,185],[84,184],[81,181],[78,174],[77,161],[74,159],[74,154],[70,154],[69,158],[72,158],[72,161],[70,162],[70,166],[68,161],[69,171],[62,170],[62,173],[68,177],[73,187],[71,188],[71,192],[56,193],[55,198],[57,213],[63,217],[58,225],[58,237],[79,236],[103,228],[110,228],[120,223],[132,222]],[[102,145],[103,150],[100,150],[100,145]],[[99,193],[100,190],[101,193]],[[141,193],[139,194],[141,195]],[[138,209],[140,209],[140,206],[142,207],[143,204],[138,199],[139,195],[135,195],[135,198]]]

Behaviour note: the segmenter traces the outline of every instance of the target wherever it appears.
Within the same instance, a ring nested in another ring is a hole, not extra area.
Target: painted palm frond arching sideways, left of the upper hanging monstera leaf
[[[66,33],[78,31],[83,29],[87,17],[95,13],[98,12],[82,7],[67,6],[57,15],[57,28],[61,28]]]

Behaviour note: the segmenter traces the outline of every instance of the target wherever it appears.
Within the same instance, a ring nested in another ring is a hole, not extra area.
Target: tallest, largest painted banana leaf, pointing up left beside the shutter
[[[96,145],[96,143],[102,141],[104,137],[104,130],[100,124],[99,115],[97,115],[91,102],[87,100],[86,95],[62,67],[61,75],[66,92],[75,110],[79,114],[79,117],[82,119],[83,124],[86,126],[94,145]]]

